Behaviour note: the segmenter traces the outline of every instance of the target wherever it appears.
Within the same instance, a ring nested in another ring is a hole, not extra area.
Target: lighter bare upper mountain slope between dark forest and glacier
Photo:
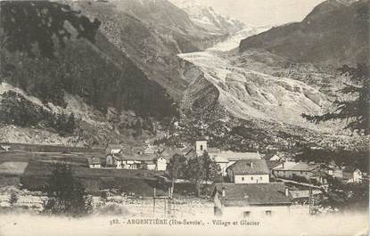
[[[111,44],[177,101],[188,85],[177,53],[200,51],[226,37],[196,26],[186,12],[167,0],[78,2],[74,6],[100,19],[101,32]]]

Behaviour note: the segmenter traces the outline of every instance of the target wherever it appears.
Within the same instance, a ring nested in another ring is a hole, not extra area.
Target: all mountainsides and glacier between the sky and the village
[[[71,37],[53,60],[0,49],[0,142],[178,146],[205,134],[237,151],[368,145],[344,122],[301,118],[331,109],[346,80],[336,68],[368,61],[368,0],[327,0],[301,22],[263,28],[201,1],[62,3],[100,20],[95,43]]]

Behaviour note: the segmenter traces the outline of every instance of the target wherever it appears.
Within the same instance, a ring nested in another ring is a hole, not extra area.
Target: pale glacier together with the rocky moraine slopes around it
[[[185,77],[191,84],[180,103],[188,116],[161,142],[192,142],[206,134],[210,145],[234,151],[366,147],[368,138],[349,136],[343,122],[317,126],[300,116],[321,113],[337,98],[345,78],[335,69],[293,63],[260,49],[239,53],[230,50],[235,37],[204,52],[178,55],[189,62]]]

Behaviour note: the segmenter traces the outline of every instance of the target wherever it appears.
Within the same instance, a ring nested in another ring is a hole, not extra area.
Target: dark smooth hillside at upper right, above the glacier
[[[368,62],[369,42],[369,1],[328,0],[301,22],[245,38],[239,50],[259,48],[293,62],[338,67]]]

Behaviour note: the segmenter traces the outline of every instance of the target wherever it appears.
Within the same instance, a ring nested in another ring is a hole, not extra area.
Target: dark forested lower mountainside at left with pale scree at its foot
[[[166,90],[148,79],[124,54],[110,54],[111,47],[98,35],[96,45],[71,40],[64,49],[58,49],[55,60],[1,50],[0,123],[46,128],[62,136],[77,135],[81,143],[103,144],[127,139],[119,136],[122,130],[115,128],[119,124],[111,121],[120,120],[127,110],[134,116],[123,121],[131,127],[139,117],[172,117],[173,100]],[[109,116],[110,110],[114,110],[113,116]],[[61,115],[72,113],[77,126],[64,132],[59,124]],[[112,132],[115,130],[117,134]],[[24,132],[26,136],[28,133]],[[3,135],[11,137],[12,132],[2,133],[2,140],[6,138]],[[57,139],[50,142],[58,143]]]

